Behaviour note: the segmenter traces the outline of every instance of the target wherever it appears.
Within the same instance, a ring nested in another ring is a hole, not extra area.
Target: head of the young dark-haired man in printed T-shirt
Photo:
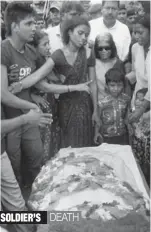
[[[17,34],[21,40],[33,40],[36,25],[35,11],[28,3],[12,2],[7,5],[4,14],[7,36]]]

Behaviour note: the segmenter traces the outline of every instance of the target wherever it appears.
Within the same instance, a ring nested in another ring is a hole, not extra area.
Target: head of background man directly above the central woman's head
[[[63,2],[61,8],[62,21],[66,18],[71,19],[73,16],[81,16],[85,12],[83,5],[80,2],[66,1]]]

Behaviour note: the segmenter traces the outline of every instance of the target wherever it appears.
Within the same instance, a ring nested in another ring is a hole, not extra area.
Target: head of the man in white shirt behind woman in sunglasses
[[[102,15],[108,24],[114,24],[117,19],[119,1],[102,1]]]

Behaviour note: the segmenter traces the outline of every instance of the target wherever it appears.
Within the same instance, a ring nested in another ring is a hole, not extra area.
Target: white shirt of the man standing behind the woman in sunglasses
[[[113,36],[117,48],[117,54],[120,60],[125,61],[129,53],[129,46],[131,43],[131,35],[128,27],[116,20],[113,27],[107,28],[103,22],[103,17],[94,19],[90,21],[91,33],[89,39],[95,41],[95,38],[99,34],[104,34],[106,32]]]

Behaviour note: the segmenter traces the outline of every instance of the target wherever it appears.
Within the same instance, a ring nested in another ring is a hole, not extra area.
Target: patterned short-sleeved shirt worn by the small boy
[[[130,97],[122,93],[117,99],[107,94],[99,101],[100,118],[102,121],[101,134],[103,137],[121,136],[127,133],[125,117]]]

